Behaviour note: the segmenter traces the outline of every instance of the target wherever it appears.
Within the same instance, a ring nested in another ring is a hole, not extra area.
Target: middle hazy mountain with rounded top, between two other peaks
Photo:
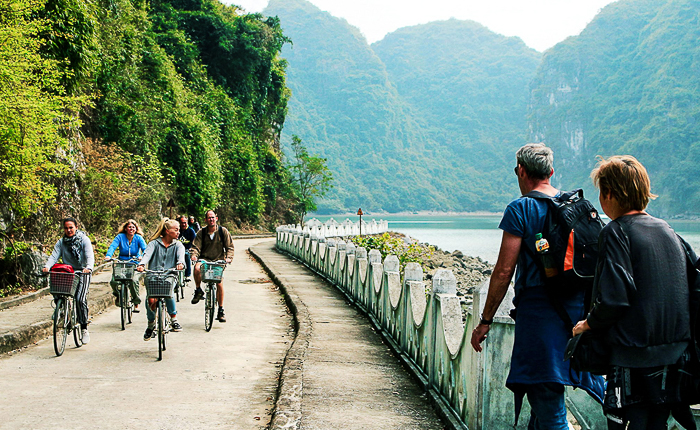
[[[514,152],[524,143],[528,84],[541,54],[519,38],[473,21],[401,28],[372,45],[399,94],[449,169],[441,181],[459,184],[461,210],[501,210],[517,195]]]

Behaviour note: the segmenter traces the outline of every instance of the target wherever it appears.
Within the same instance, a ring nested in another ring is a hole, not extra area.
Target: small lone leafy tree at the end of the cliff
[[[307,213],[316,210],[317,197],[323,197],[333,188],[333,173],[326,166],[326,159],[309,155],[309,151],[297,135],[292,136],[294,164],[292,182],[298,199],[299,223],[304,223]]]

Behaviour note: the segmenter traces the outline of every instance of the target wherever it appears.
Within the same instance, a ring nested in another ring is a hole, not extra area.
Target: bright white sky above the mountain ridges
[[[222,0],[248,12],[262,12],[268,0]],[[577,35],[615,0],[310,0],[345,18],[369,43],[387,33],[450,18],[476,21],[505,36],[518,36],[540,52]],[[283,23],[284,26],[284,23]]]

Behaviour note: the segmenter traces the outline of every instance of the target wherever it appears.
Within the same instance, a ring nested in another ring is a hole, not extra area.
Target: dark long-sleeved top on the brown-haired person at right
[[[588,324],[606,330],[610,364],[674,364],[690,340],[688,276],[681,240],[663,220],[628,215],[600,234]]]

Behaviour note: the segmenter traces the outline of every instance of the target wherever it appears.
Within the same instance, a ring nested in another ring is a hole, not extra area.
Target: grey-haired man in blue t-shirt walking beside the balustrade
[[[522,197],[506,208],[499,228],[503,230],[501,248],[489,283],[483,314],[479,325],[472,332],[471,344],[481,352],[493,317],[508,291],[515,273],[515,298],[517,311],[515,342],[510,373],[506,386],[516,396],[516,420],[522,400],[527,396],[531,415],[528,429],[569,428],[564,404],[564,386],[586,390],[602,402],[603,380],[588,373],[576,372],[564,361],[564,349],[570,332],[559,317],[544,287],[534,258],[535,235],[542,233],[547,216],[545,200],[524,197],[531,191],[548,196],[559,195],[559,190],[549,183],[554,174],[552,150],[544,144],[531,143],[516,153],[515,174]],[[573,293],[560,299],[571,317],[579,321],[584,316],[584,292]]]

